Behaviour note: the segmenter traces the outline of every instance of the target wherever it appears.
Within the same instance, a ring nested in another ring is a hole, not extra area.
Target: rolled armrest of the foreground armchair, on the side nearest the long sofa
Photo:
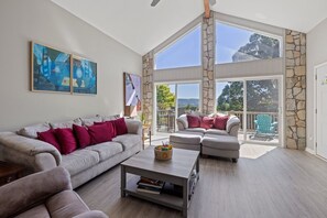
[[[1,217],[14,216],[67,189],[72,189],[70,175],[63,167],[20,178],[0,187],[0,215]],[[12,193],[13,190],[15,194]]]

